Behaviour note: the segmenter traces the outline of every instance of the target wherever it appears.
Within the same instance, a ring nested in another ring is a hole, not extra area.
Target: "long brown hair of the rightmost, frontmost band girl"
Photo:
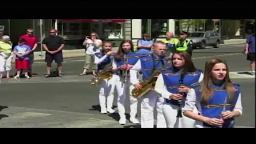
[[[212,75],[211,71],[213,70],[214,66],[218,63],[223,63],[226,65],[226,77],[224,78],[224,89],[227,91],[230,97],[230,102],[234,99],[234,92],[235,88],[232,85],[232,82],[230,80],[230,70],[224,60],[213,58],[206,62],[205,64],[205,70],[204,75],[202,79],[202,100],[201,102],[206,103],[213,95],[213,90],[210,88],[210,85],[212,83]]]

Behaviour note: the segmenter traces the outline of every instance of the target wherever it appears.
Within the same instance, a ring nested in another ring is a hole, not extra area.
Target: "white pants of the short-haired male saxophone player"
[[[166,128],[166,120],[162,114],[164,98],[154,90],[142,96],[141,127],[154,128],[154,107],[157,109],[157,127]]]

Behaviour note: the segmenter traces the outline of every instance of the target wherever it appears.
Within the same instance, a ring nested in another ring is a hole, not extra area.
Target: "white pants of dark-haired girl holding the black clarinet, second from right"
[[[194,107],[194,113],[198,114],[198,110]],[[163,115],[166,118],[168,128],[194,128],[195,120],[186,117],[182,113],[182,118],[177,118],[178,106],[164,102]]]

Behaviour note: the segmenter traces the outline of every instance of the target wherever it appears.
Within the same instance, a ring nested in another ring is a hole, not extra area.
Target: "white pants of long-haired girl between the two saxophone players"
[[[130,97],[130,118],[135,118],[137,114],[137,108],[138,108],[138,99],[134,98],[131,95],[131,91],[134,90],[134,86],[130,84],[130,78],[129,76],[126,79],[126,83],[124,84],[122,82],[122,78],[118,75],[115,75],[115,86],[117,88],[118,92],[118,114],[120,118],[126,117],[126,110],[125,110],[125,102],[126,102],[126,94],[127,91],[129,91],[129,97]],[[127,90],[129,89],[129,90]]]

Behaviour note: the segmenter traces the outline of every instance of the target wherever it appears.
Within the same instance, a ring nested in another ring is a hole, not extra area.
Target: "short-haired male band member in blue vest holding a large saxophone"
[[[136,89],[141,89],[142,86],[138,81],[138,73],[142,71],[142,79],[149,78],[154,70],[158,70],[164,64],[164,52],[166,44],[162,41],[156,41],[153,44],[153,54],[146,54],[140,57],[138,62],[130,69],[130,82]],[[142,96],[141,103],[141,127],[154,128],[154,107],[157,109],[157,127],[166,128],[166,122],[162,115],[163,98],[154,90],[150,90]]]

